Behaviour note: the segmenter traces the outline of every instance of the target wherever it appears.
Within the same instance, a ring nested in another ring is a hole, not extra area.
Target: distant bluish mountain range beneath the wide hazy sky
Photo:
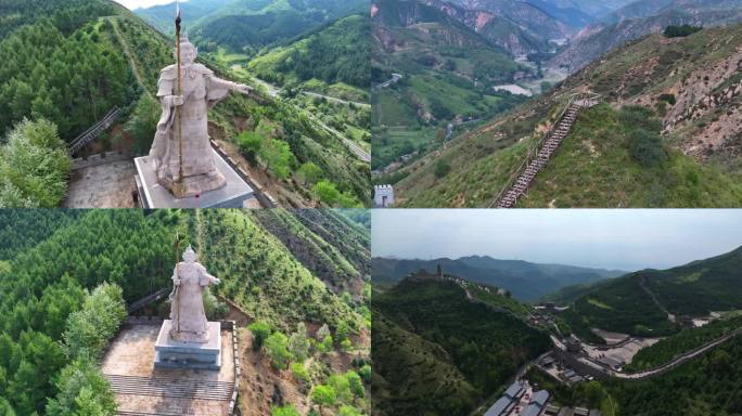
[[[373,282],[396,283],[421,269],[434,273],[438,264],[444,273],[503,288],[510,291],[513,298],[524,301],[537,300],[565,286],[594,283],[626,273],[617,270],[498,260],[487,256],[470,256],[456,260],[398,260],[375,257],[371,260],[371,277]]]

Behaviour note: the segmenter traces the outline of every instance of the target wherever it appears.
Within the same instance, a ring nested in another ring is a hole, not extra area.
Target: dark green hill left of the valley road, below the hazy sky
[[[545,334],[430,275],[376,295],[372,314],[382,322],[373,330],[376,415],[466,414],[549,348]]]

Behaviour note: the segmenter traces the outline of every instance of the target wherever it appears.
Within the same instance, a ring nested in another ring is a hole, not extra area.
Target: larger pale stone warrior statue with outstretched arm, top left
[[[208,142],[207,113],[230,91],[248,94],[251,88],[219,79],[206,66],[195,63],[199,51],[188,36],[181,37],[179,47],[176,58],[180,72],[175,64],[159,76],[157,96],[163,114],[150,156],[155,162],[157,182],[181,198],[225,185],[226,179],[216,168]]]

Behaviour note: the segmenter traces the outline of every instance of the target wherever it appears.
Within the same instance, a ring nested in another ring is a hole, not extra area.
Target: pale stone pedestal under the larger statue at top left
[[[187,178],[183,186],[187,196],[177,198],[170,190],[157,183],[157,172],[151,156],[135,159],[137,166],[137,187],[144,208],[243,208],[245,203],[255,198],[253,188],[232,169],[229,164],[213,148],[215,166],[218,172],[212,177],[201,174]],[[223,183],[213,191],[200,193],[201,188],[210,188],[214,182]]]

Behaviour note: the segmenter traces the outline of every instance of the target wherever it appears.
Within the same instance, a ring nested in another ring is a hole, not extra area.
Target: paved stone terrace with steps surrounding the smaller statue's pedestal
[[[119,415],[228,415],[235,380],[232,332],[221,330],[219,370],[155,368],[161,324],[125,325],[103,358],[101,370]]]

